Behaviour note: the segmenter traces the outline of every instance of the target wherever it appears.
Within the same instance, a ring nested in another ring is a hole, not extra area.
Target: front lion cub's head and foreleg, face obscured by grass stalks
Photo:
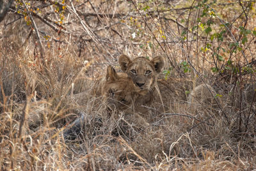
[[[102,80],[101,94],[111,110],[124,112],[129,122],[148,126],[145,119],[133,110],[134,100],[144,93],[126,73],[116,73],[113,67],[108,66],[106,77]]]

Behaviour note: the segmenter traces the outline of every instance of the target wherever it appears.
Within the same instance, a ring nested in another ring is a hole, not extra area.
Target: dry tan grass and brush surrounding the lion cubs
[[[223,20],[232,23],[230,32],[224,27],[224,41],[211,41],[204,31],[192,29],[203,10],[190,8],[192,1],[88,2],[74,2],[80,18],[69,1],[65,4],[67,33],[50,30],[34,16],[38,29],[50,36],[46,39],[40,33],[44,58],[35,34],[29,34],[31,26],[24,17],[15,20],[17,11],[1,22],[1,170],[255,170],[255,36],[250,34],[241,43],[238,28],[246,20],[241,6],[235,1],[209,4],[218,14],[212,18],[212,32],[220,33]],[[248,10],[248,3],[243,7]],[[49,18],[58,20],[55,8],[42,8],[42,15],[50,11]],[[253,9],[246,11],[250,30],[256,26]],[[210,18],[202,17],[201,22]],[[81,21],[94,32],[84,29]],[[182,34],[186,29],[188,33]],[[236,53],[230,48],[230,43],[236,43],[233,37],[242,49]],[[204,52],[207,43],[211,47]],[[226,50],[219,53],[217,47]],[[119,69],[117,58],[122,53],[162,54],[166,59],[162,78],[211,84],[221,98],[221,108],[202,105],[191,110],[189,104],[173,101],[175,114],[156,117],[147,128],[129,123],[122,112],[109,113],[102,98],[91,92],[107,64]],[[214,53],[224,61],[216,61]],[[219,70],[212,73],[216,66]],[[186,67],[191,71],[184,73]],[[246,67],[253,72],[246,72]],[[82,132],[64,142],[60,133],[81,114]]]

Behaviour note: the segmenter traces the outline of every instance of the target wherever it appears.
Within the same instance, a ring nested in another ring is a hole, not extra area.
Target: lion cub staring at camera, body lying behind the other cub
[[[211,93],[204,85],[198,85],[191,91],[193,82],[187,78],[157,80],[164,67],[164,58],[161,56],[153,57],[151,60],[145,57],[136,57],[131,60],[123,54],[119,57],[118,62],[122,71],[127,73],[134,84],[145,93],[136,96],[134,100],[134,110],[140,112],[141,115],[147,115],[148,117],[148,114],[152,115],[152,111],[155,111],[156,114],[173,112],[174,106],[179,107],[179,104],[188,102],[192,99],[191,96],[195,97],[196,103],[202,101],[212,103],[212,98],[211,101],[209,100],[209,94]],[[216,95],[214,89],[210,85],[207,86],[213,95]],[[192,93],[188,98],[189,92]],[[198,98],[201,98],[200,101],[198,101]],[[209,99],[207,100],[207,98]]]

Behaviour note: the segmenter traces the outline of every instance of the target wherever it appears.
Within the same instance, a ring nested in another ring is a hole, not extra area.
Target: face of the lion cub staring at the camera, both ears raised
[[[127,73],[141,90],[150,90],[155,86],[157,76],[164,66],[164,58],[154,57],[151,61],[145,57],[136,57],[133,61],[124,54],[118,60],[122,71]]]

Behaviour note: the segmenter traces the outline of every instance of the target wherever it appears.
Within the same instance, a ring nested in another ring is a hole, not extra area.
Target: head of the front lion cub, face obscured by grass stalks
[[[131,107],[139,91],[140,88],[134,85],[126,73],[116,73],[112,66],[108,66],[101,94],[111,109],[124,110]]]

